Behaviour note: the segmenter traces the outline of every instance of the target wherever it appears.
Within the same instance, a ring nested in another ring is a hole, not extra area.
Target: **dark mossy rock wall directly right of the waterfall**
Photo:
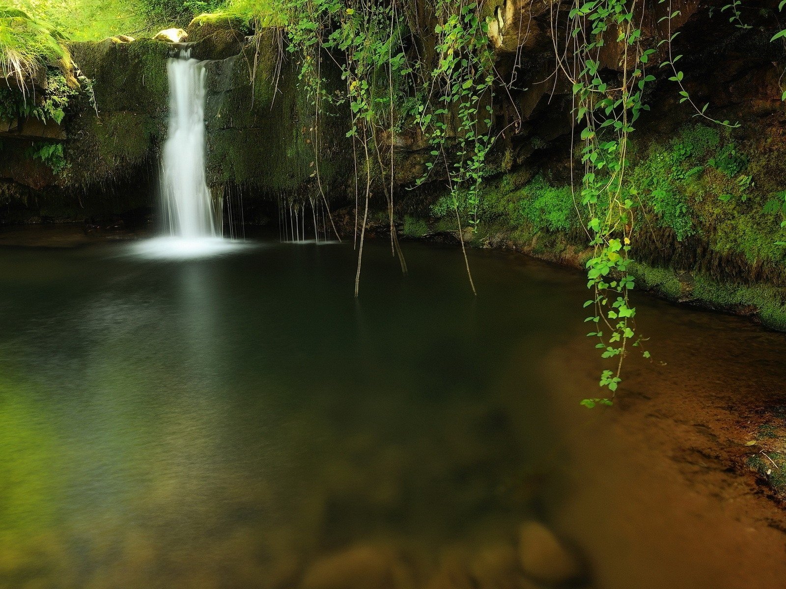
[[[254,64],[256,63],[256,68]],[[252,188],[261,197],[314,194],[346,181],[351,143],[328,105],[319,116],[299,87],[296,57],[280,53],[276,31],[226,60],[208,62],[207,166],[211,185]],[[338,71],[327,71],[340,87]],[[318,174],[318,175],[317,175]]]

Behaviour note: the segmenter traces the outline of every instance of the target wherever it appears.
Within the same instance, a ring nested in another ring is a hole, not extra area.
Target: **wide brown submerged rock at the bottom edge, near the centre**
[[[300,589],[411,589],[413,574],[392,547],[362,544],[321,558]]]

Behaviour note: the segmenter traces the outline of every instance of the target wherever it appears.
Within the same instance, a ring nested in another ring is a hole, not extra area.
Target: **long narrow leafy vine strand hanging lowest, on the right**
[[[613,360],[613,368],[604,370],[599,382],[613,397],[622,381],[626,353],[641,342],[635,333],[636,309],[629,300],[634,279],[627,265],[636,203],[635,193],[626,181],[626,150],[634,123],[648,109],[641,101],[641,93],[656,79],[645,72],[655,49],[641,46],[634,6],[624,1],[576,2],[569,19],[575,57],[564,68],[570,68],[567,71],[575,97],[573,116],[581,128],[584,175],[580,202],[586,211],[586,230],[593,247],[592,257],[586,262],[587,287],[592,298],[584,304],[591,308],[585,321],[593,324],[593,331],[587,336],[597,339],[595,347],[601,350],[601,357]],[[633,64],[626,59],[620,61],[622,83],[616,75],[613,79],[606,75],[604,79],[597,60],[606,38],[610,42],[615,39],[613,42],[626,53],[637,57]]]

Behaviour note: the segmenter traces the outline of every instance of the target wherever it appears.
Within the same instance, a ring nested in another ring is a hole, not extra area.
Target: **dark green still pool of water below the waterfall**
[[[581,555],[582,586],[781,586],[781,532],[578,406],[599,366],[580,274],[472,251],[476,298],[455,248],[405,253],[403,277],[367,243],[355,300],[347,244],[4,249],[0,587],[505,589],[445,569],[515,551],[532,519]],[[748,365],[740,346],[784,375],[779,334],[639,307],[661,357],[707,361],[634,362],[634,382],[678,389],[693,366],[706,385]],[[364,566],[395,574],[339,579]]]

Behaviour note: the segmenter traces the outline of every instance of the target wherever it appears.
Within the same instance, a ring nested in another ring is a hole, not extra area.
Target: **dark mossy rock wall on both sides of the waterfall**
[[[296,57],[281,53],[277,31],[253,44],[236,31],[195,36],[190,47],[207,70],[211,187],[270,200],[313,196],[320,188],[330,193],[347,180],[340,174],[351,158],[346,131],[329,108],[317,117],[299,90]],[[93,81],[94,104],[86,91],[69,104],[66,165],[57,174],[20,150],[0,152],[0,178],[6,178],[0,204],[7,207],[0,221],[81,221],[156,207],[169,112],[167,58],[174,49],[150,39],[73,43],[75,63]],[[233,51],[239,53],[227,57]],[[340,87],[337,69],[326,73],[329,85]]]

